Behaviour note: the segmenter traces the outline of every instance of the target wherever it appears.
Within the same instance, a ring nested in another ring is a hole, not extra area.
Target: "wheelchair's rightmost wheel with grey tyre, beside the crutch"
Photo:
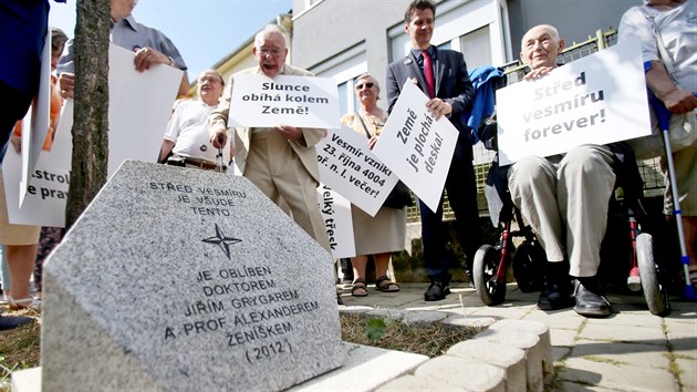
[[[657,267],[654,262],[654,240],[649,234],[642,233],[636,237],[636,260],[648,310],[652,314],[665,316],[666,297],[658,282]]]

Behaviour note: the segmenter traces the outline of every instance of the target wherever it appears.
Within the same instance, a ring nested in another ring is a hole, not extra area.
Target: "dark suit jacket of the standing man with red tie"
[[[452,106],[450,123],[460,132],[457,146],[455,147],[455,156],[471,159],[472,147],[469,141],[469,132],[466,125],[460,121],[460,115],[465,112],[466,107],[472,104],[475,99],[475,87],[472,87],[472,83],[469,80],[465,59],[462,58],[462,53],[436,49],[434,63],[436,97],[441,99]],[[404,82],[413,78],[416,78],[418,81],[419,89],[426,91],[424,73],[419,69],[417,59],[412,52],[405,58],[389,64],[387,68],[387,102],[389,103],[389,112],[392,112],[393,106],[397,102],[397,97],[399,97],[402,93]]]

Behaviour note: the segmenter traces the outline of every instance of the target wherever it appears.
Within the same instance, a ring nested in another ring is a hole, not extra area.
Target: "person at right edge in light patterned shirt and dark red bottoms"
[[[697,0],[646,0],[622,17],[620,41],[638,38],[647,64],[646,83],[673,114],[688,114],[693,132],[697,126]],[[665,47],[667,59],[660,54]],[[670,64],[672,63],[672,66]],[[670,78],[667,69],[674,69]],[[683,209],[690,280],[697,285],[697,144],[673,153],[678,197]],[[664,175],[666,162],[660,162]],[[666,177],[667,178],[667,177]],[[667,182],[667,180],[666,180]],[[667,187],[669,189],[669,187]],[[672,196],[666,193],[665,213],[670,214]]]

